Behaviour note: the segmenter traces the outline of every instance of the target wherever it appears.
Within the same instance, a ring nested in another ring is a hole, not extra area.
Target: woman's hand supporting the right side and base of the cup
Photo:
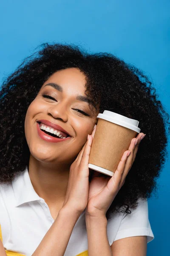
[[[135,160],[139,143],[141,141],[140,139],[143,135],[144,133],[140,133],[136,138],[131,140],[128,150],[124,152],[112,177],[94,170],[90,170],[92,177],[89,185],[86,217],[100,217],[106,215],[111,203],[125,183],[125,178]],[[90,139],[92,140],[93,136],[91,137],[92,138]],[[127,156],[129,152],[130,155]]]

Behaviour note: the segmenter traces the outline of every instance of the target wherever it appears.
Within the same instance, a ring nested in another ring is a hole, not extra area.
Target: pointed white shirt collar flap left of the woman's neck
[[[14,177],[12,187],[16,199],[15,207],[31,201],[42,200],[32,186],[27,167],[23,172]]]

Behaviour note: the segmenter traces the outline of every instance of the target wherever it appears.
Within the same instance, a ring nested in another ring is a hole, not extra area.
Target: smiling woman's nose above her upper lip
[[[49,107],[47,109],[47,113],[48,115],[53,116],[55,119],[59,119],[63,122],[67,122],[68,120],[68,113],[63,102],[59,102],[57,105]]]

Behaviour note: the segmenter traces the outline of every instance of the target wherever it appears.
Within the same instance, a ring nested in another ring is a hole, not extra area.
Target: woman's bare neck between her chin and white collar
[[[61,208],[67,191],[70,164],[43,163],[30,154],[28,172],[35,192],[48,205]]]

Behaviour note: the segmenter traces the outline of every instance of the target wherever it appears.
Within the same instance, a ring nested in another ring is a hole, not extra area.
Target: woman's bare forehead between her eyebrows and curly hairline
[[[62,86],[63,92],[70,90],[71,92],[75,91],[83,94],[85,91],[86,77],[79,69],[73,67],[55,72],[45,81],[42,87],[52,82]]]

